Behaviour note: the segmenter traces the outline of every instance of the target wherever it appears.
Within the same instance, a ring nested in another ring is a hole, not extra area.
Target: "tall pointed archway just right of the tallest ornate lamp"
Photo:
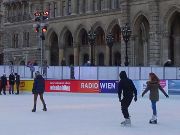
[[[149,55],[149,22],[140,15],[134,25],[135,48],[134,57],[136,66],[147,66]]]

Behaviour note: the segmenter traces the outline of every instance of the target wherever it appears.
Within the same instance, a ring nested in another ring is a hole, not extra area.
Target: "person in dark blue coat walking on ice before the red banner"
[[[43,111],[47,111],[46,104],[43,98],[44,91],[45,91],[45,80],[42,77],[42,75],[40,75],[39,71],[36,71],[35,79],[33,83],[33,89],[32,89],[32,93],[34,94],[34,107],[32,109],[32,112],[36,111],[38,95],[40,96],[40,99],[43,103]]]

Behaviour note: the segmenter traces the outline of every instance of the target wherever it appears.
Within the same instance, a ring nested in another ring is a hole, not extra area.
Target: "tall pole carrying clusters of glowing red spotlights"
[[[43,11],[39,12],[36,11],[34,13],[35,17],[35,24],[33,24],[34,31],[39,33],[40,37],[40,51],[41,51],[41,74],[42,74],[42,68],[43,68],[43,40],[45,40],[44,33],[47,31],[47,23],[46,20],[48,20],[49,12]]]

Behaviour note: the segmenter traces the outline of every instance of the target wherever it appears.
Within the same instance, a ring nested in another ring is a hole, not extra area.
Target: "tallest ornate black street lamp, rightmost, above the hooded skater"
[[[128,62],[128,54],[127,54],[127,44],[129,42],[130,36],[131,36],[131,29],[128,26],[128,24],[126,23],[126,25],[124,27],[122,27],[122,35],[123,35],[123,39],[126,45],[126,56],[125,56],[125,62],[124,65],[128,66],[129,62]]]

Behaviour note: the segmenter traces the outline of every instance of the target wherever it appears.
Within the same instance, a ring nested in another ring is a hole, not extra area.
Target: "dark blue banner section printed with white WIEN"
[[[101,93],[117,93],[118,80],[100,80],[99,89]]]

